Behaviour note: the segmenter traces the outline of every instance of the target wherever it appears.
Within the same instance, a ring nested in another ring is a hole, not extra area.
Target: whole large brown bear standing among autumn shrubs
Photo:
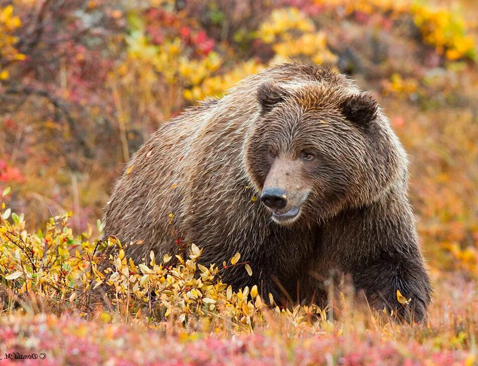
[[[345,76],[287,63],[170,119],[125,168],[104,234],[141,261],[204,249],[253,269],[222,272],[234,288],[324,305],[320,279],[349,274],[376,309],[425,316],[430,281],[407,197],[407,157],[375,97]],[[396,291],[411,304],[402,306]]]

